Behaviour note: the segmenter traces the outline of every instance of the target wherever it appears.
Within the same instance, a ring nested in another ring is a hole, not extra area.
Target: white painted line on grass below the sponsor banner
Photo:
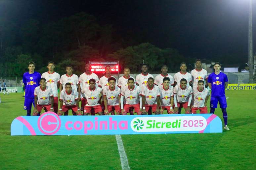
[[[117,143],[117,147],[118,147],[118,152],[120,155],[120,159],[121,159],[121,165],[122,165],[122,169],[130,169],[129,167],[129,163],[128,163],[128,159],[124,150],[124,145],[123,145],[123,141],[120,135],[115,135],[116,138],[116,143]]]

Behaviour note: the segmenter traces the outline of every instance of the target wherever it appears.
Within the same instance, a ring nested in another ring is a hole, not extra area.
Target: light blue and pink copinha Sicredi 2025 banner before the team
[[[156,133],[221,133],[221,119],[214,114],[132,116],[20,116],[11,135],[111,135]]]

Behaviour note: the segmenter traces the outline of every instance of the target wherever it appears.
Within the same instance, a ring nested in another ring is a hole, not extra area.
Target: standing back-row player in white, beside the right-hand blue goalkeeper
[[[202,69],[202,62],[200,59],[195,60],[196,68],[191,71],[193,90],[197,89],[197,82],[203,80],[205,87],[208,87],[207,79],[208,73]]]

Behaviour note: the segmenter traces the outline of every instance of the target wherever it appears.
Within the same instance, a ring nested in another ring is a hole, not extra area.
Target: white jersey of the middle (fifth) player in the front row
[[[128,86],[124,86],[121,89],[121,95],[124,96],[126,104],[133,105],[140,103],[139,95],[141,95],[141,89],[139,86],[134,85],[133,89],[129,89]]]

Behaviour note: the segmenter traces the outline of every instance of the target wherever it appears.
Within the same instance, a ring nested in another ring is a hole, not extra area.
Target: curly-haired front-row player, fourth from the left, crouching
[[[121,113],[120,110],[120,95],[121,89],[118,86],[115,86],[116,79],[114,77],[109,77],[108,88],[103,89],[103,100],[105,105],[104,114],[109,115],[110,111],[115,110],[117,114]],[[115,115],[111,113],[111,115]]]

